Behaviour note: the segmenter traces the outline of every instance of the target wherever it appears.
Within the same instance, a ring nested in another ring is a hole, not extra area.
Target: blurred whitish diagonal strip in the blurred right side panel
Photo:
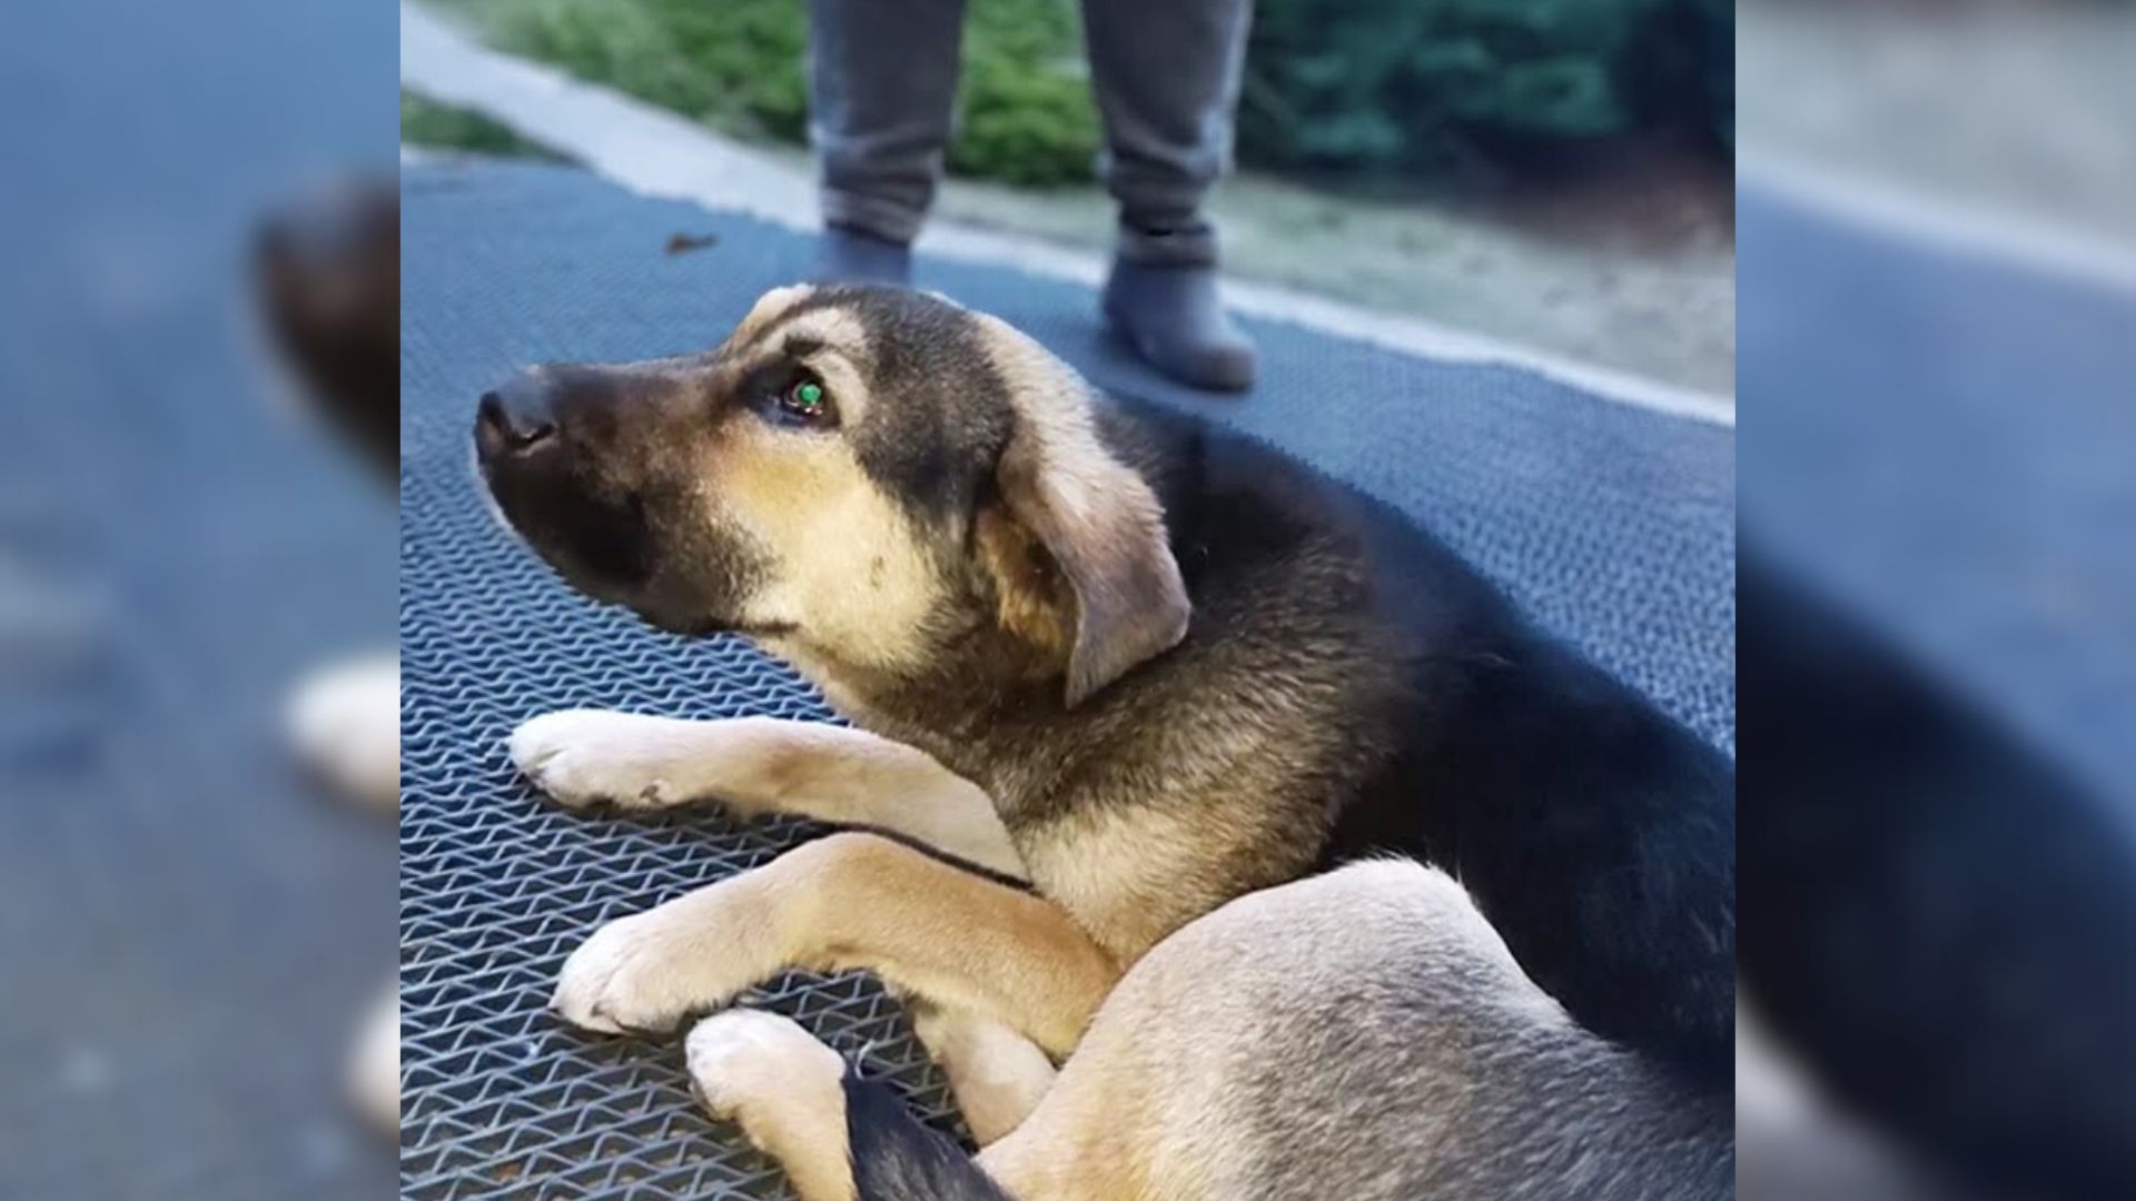
[[[1737,186],[1764,188],[1820,216],[1916,246],[2136,295],[2136,248],[2019,212],[1912,190],[1771,147],[1737,150]]]

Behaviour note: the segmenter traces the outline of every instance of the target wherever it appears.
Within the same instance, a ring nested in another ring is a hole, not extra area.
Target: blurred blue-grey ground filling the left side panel
[[[393,13],[0,21],[0,1197],[380,1197],[346,1073],[393,827],[286,709],[391,650],[395,506],[276,353],[254,252],[393,171]]]

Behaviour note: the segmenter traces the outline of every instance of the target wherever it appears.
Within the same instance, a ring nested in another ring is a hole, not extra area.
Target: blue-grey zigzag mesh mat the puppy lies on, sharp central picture
[[[718,244],[664,254],[675,233]],[[525,363],[705,346],[758,293],[803,278],[810,244],[568,169],[429,165],[404,171],[402,261],[402,1195],[782,1197],[775,1169],[696,1111],[677,1039],[579,1034],[545,1002],[602,921],[807,831],[566,814],[515,778],[504,737],[570,705],[827,714],[741,643],[664,637],[566,592],[487,515],[468,427],[474,397]],[[923,263],[921,282],[1109,389],[1203,406],[1373,487],[1732,746],[1728,430],[1279,325],[1256,327],[1262,387],[1211,402],[1102,342],[1083,288],[944,263]],[[946,1120],[938,1075],[869,983],[786,979],[750,1002],[797,1015]]]

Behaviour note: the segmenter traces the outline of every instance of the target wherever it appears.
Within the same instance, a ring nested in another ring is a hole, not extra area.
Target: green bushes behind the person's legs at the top
[[[506,51],[726,132],[807,137],[805,0],[431,2]],[[1258,0],[1239,158],[1427,175],[1660,118],[1726,137],[1732,28],[1730,0]],[[1074,0],[970,0],[951,171],[1077,184],[1096,152]]]

